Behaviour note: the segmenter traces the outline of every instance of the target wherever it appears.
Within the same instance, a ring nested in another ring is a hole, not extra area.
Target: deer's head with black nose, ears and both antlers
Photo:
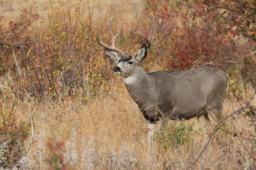
[[[152,15],[152,13],[151,13]],[[154,15],[152,15],[153,23],[149,20],[150,25],[150,35],[149,38],[144,36],[143,34],[138,33],[138,35],[141,36],[141,38],[145,39],[145,41],[148,43],[148,45],[143,44],[139,50],[132,54],[125,54],[123,50],[118,49],[115,47],[115,40],[118,37],[118,35],[121,33],[123,29],[123,24],[121,25],[120,29],[118,30],[118,33],[114,36],[111,30],[111,19],[109,21],[108,30],[110,32],[110,35],[112,36],[112,44],[111,46],[108,46],[102,41],[101,33],[99,32],[99,35],[97,36],[97,42],[102,46],[105,47],[105,53],[108,56],[108,59],[112,61],[113,63],[118,63],[114,67],[114,72],[118,75],[122,75],[123,77],[130,77],[134,73],[138,72],[138,69],[141,69],[141,62],[146,58],[148,55],[147,49],[151,47],[155,32],[157,28],[157,22],[155,22]]]

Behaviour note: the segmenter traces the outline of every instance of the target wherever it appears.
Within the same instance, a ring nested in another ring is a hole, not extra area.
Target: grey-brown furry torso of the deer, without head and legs
[[[141,69],[135,77],[136,81],[125,84],[126,88],[150,121],[161,117],[188,120],[203,110],[220,112],[227,94],[226,74],[209,67],[152,73]]]

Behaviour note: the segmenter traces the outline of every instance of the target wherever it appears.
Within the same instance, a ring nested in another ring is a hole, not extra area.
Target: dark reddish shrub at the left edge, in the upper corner
[[[16,49],[27,48],[27,42],[32,35],[30,27],[39,15],[31,5],[21,9],[18,18],[13,16],[8,18],[4,13],[12,10],[12,5],[8,6],[4,1],[0,2],[0,10],[0,75],[2,76],[7,72],[20,72],[21,60],[15,56]]]

